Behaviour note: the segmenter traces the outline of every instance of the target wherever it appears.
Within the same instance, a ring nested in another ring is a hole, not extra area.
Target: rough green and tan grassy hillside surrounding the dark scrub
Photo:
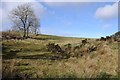
[[[81,57],[51,59],[56,54],[47,50],[48,43],[60,47],[81,44],[82,38],[50,35],[32,36],[25,40],[3,40],[3,77],[24,78],[114,78],[118,72],[118,43],[88,39],[98,49]]]

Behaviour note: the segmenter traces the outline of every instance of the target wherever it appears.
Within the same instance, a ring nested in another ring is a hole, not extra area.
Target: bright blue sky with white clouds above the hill
[[[8,14],[13,8],[31,2],[35,14],[40,18],[40,32],[42,34],[99,38],[112,35],[118,31],[117,2],[57,1],[26,0],[24,2],[9,2],[9,0],[4,0],[2,6],[0,3],[1,30],[11,29],[12,24]]]

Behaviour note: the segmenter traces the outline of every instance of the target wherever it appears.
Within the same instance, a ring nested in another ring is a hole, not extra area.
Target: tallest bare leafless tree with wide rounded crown
[[[23,31],[23,37],[28,36],[30,29],[38,29],[39,21],[31,4],[22,4],[11,11],[11,20],[17,30]]]

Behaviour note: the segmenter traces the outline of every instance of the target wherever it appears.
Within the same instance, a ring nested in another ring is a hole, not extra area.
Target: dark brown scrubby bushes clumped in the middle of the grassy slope
[[[90,54],[91,52],[97,50],[97,46],[87,42],[87,39],[82,40],[82,43],[77,46],[73,46],[72,44],[68,43],[60,47],[60,45],[58,44],[48,43],[46,47],[47,50],[50,51],[51,53],[59,54],[63,57],[66,56],[67,58],[70,57],[78,58],[80,56]]]

